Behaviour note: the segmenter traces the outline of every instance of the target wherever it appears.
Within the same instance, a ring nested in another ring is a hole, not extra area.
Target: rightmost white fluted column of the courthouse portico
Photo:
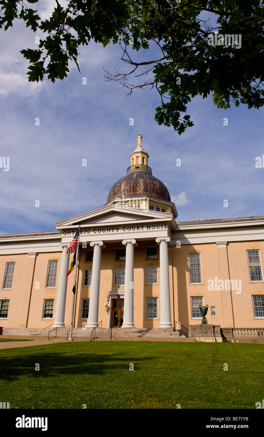
[[[159,328],[172,328],[171,325],[171,300],[169,281],[168,243],[169,237],[156,238],[160,246],[160,299],[161,316]]]

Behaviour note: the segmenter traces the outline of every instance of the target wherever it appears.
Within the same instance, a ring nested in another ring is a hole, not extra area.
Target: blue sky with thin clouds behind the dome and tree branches
[[[53,5],[42,1],[41,17]],[[92,42],[80,48],[81,74],[72,65],[64,81],[28,83],[20,50],[35,48],[38,32],[22,21],[0,32],[0,156],[10,156],[10,170],[0,168],[0,233],[53,230],[58,220],[105,204],[126,174],[141,131],[152,174],[166,184],[178,221],[264,215],[264,168],[255,167],[264,154],[264,109],[224,111],[210,97],[196,97],[189,104],[195,126],[178,135],[154,121],[154,90],[127,97],[119,83],[104,81],[103,66],[111,72],[125,68],[118,45]]]

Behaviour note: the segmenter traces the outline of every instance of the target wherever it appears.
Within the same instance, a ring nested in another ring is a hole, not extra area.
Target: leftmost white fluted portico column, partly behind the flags
[[[65,303],[66,303],[66,292],[67,292],[67,283],[68,277],[66,274],[69,270],[69,258],[70,254],[66,253],[68,249],[67,244],[61,244],[62,247],[62,264],[60,271],[60,278],[58,281],[58,296],[56,303],[56,312],[55,319],[53,323],[53,327],[63,328],[65,326],[64,317],[65,317]],[[75,266],[77,268],[77,266]]]

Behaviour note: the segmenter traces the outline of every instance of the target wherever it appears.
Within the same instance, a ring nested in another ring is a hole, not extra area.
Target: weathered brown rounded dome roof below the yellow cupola
[[[171,201],[171,196],[161,180],[143,171],[132,171],[113,184],[107,203],[122,196],[125,198],[149,196],[158,200]]]

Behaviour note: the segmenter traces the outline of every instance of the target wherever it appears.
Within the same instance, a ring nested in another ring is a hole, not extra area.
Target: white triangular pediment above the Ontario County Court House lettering
[[[152,220],[171,220],[170,213],[161,213],[136,208],[118,208],[115,205],[106,205],[102,208],[86,212],[75,217],[62,220],[55,223],[57,229],[71,228],[74,226],[89,226],[89,225],[114,225],[117,223],[139,223]]]

